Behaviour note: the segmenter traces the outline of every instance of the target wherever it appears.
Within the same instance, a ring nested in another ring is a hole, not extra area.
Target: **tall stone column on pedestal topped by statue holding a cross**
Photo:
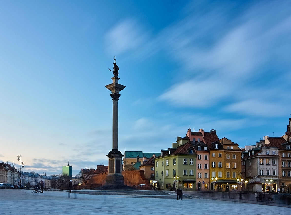
[[[113,101],[113,115],[112,115],[112,150],[106,155],[109,158],[108,161],[108,175],[106,177],[106,184],[124,184],[124,178],[121,174],[122,168],[122,153],[118,150],[118,99],[119,92],[125,88],[125,86],[118,84],[118,66],[116,65],[116,59],[114,56],[113,62],[113,75],[111,78],[113,82],[105,87],[111,90],[110,96]],[[110,70],[110,69],[109,69]],[[112,71],[112,70],[110,70]]]

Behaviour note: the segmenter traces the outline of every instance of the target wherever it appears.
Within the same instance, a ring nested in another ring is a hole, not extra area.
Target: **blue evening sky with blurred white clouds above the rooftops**
[[[290,1],[0,1],[0,161],[61,173],[159,152],[191,126],[239,146],[291,113]]]

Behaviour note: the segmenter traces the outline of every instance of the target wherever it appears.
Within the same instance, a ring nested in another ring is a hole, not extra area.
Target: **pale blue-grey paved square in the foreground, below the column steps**
[[[123,198],[62,191],[0,190],[0,214],[290,214],[290,208],[203,198]]]

